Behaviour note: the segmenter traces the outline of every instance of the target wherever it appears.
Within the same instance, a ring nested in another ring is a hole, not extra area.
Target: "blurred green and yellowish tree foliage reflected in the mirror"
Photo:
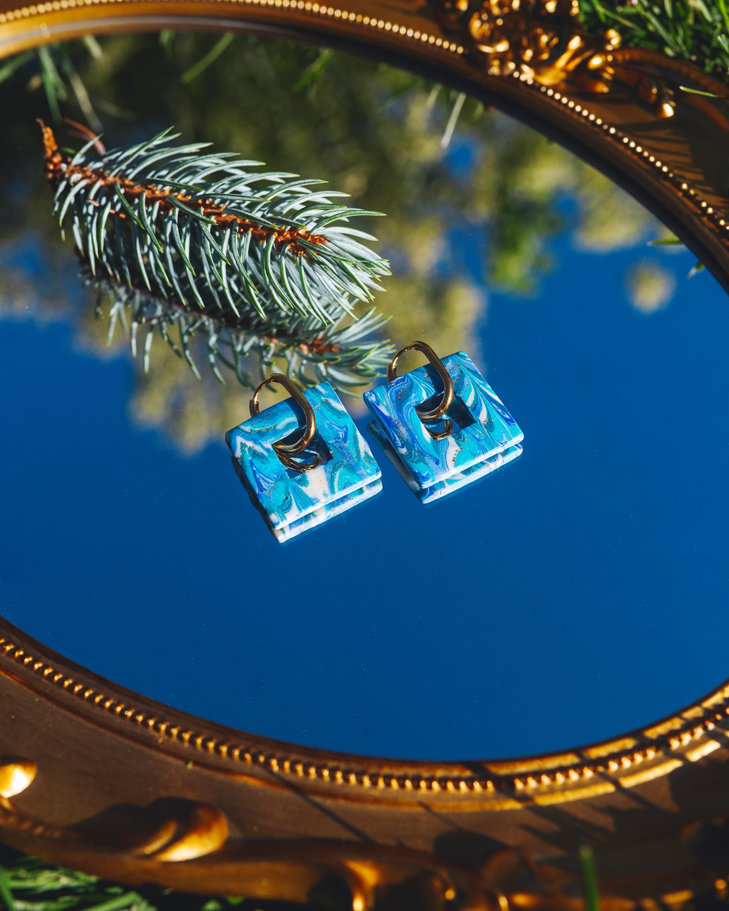
[[[210,140],[269,169],[326,179],[353,205],[385,212],[364,227],[392,263],[376,304],[398,345],[422,337],[443,353],[484,357],[477,328],[488,291],[537,295],[559,265],[555,238],[569,232],[582,249],[611,251],[658,231],[597,171],[475,100],[462,104],[448,136],[457,96],[393,67],[256,36],[111,36],[98,48],[65,49],[86,96],[82,104],[68,92],[60,111],[88,121],[92,109],[108,147],[171,122],[185,141]],[[72,320],[79,343],[103,355],[108,322],[95,318],[70,244],[49,216],[35,118],[53,112],[42,93],[27,90],[37,83],[34,60],[0,85],[0,314]],[[118,327],[110,351],[125,345]],[[247,412],[247,394],[227,379],[196,379],[165,345],[153,345],[148,374],[135,361],[131,414],[194,451]]]

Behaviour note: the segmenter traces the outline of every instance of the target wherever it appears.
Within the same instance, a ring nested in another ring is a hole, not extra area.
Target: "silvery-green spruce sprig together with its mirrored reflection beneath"
[[[385,319],[374,309],[355,319],[354,305],[372,300],[389,269],[360,242],[375,238],[347,223],[379,213],[334,202],[346,194],[323,181],[252,171],[259,162],[207,144],[174,146],[169,129],[108,152],[92,137],[71,156],[41,128],[54,214],[70,221],[98,310],[110,302],[109,338],[119,320],[136,353],[146,329],[145,369],[159,330],[196,374],[190,339],[203,333],[221,382],[219,363],[252,385],[250,353],[262,374],[283,359],[304,384],[329,379],[344,392],[382,372],[392,348],[364,336]]]

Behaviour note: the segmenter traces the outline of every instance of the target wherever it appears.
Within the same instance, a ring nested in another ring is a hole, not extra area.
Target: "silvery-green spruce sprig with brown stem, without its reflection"
[[[336,225],[377,215],[333,203],[344,194],[316,180],[247,170],[259,162],[171,146],[164,130],[139,146],[99,156],[94,141],[71,158],[42,125],[54,214],[69,216],[92,273],[196,307],[227,321],[252,308],[334,322],[372,299],[386,262]]]

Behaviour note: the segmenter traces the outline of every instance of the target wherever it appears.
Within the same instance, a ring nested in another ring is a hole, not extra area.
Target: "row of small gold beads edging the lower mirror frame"
[[[275,755],[271,752],[262,751],[261,748],[248,746],[243,747],[237,743],[225,742],[211,737],[208,734],[197,733],[174,722],[162,721],[154,715],[149,715],[144,711],[125,705],[108,698],[103,693],[94,690],[92,687],[71,677],[67,677],[62,671],[55,670],[45,661],[36,660],[33,655],[27,654],[22,648],[15,646],[13,642],[0,637],[0,656],[13,660],[25,667],[27,670],[42,677],[47,682],[55,685],[61,690],[67,691],[72,696],[96,706],[101,711],[116,715],[119,719],[136,724],[140,728],[146,728],[150,733],[156,735],[157,742],[164,740],[174,741],[194,750],[210,753],[220,756],[221,759],[234,763],[245,763],[248,765],[257,765],[267,771],[278,774],[293,775],[300,778],[309,778],[324,783],[333,783],[336,785],[363,787],[367,789],[376,789],[379,791],[405,791],[410,793],[444,793],[446,795],[459,796],[476,796],[476,797],[498,797],[498,793],[510,793],[516,796],[519,801],[529,803],[530,800],[539,801],[539,792],[545,789],[560,787],[565,790],[573,788],[572,793],[575,797],[580,796],[581,791],[591,792],[592,787],[585,787],[585,782],[601,776],[603,781],[609,781],[606,776],[614,776],[621,781],[623,787],[632,786],[631,783],[641,783],[655,777],[649,770],[645,774],[633,773],[627,777],[626,770],[632,769],[633,766],[642,763],[653,762],[660,763],[651,766],[655,769],[656,774],[663,774],[673,771],[673,768],[683,764],[681,760],[665,762],[667,754],[682,751],[689,761],[693,761],[692,752],[696,759],[703,758],[706,751],[687,751],[687,748],[693,742],[704,737],[707,732],[714,731],[717,722],[726,722],[729,717],[729,704],[724,704],[729,699],[729,686],[724,686],[714,693],[703,704],[694,705],[691,709],[683,712],[683,718],[677,717],[670,722],[670,732],[661,736],[652,736],[651,729],[644,730],[642,736],[651,740],[650,743],[643,745],[640,749],[618,750],[609,754],[601,763],[579,763],[568,765],[549,772],[541,773],[537,770],[538,761],[535,761],[535,770],[532,773],[526,773],[519,776],[499,775],[498,763],[493,763],[496,767],[495,773],[489,779],[484,779],[476,775],[473,776],[423,776],[416,774],[385,774],[382,771],[362,772],[354,769],[339,768],[323,763],[308,763],[301,759],[291,756]],[[702,718],[701,722],[696,723],[697,718]],[[665,727],[665,725],[663,725]],[[705,741],[705,743],[712,743]],[[718,743],[716,747],[718,747]],[[712,749],[716,748],[712,747]],[[516,801],[507,801],[509,809],[519,807],[521,804]],[[488,804],[485,804],[488,808]]]

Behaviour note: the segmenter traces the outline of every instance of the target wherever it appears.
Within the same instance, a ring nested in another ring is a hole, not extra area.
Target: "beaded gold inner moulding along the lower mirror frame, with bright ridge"
[[[550,92],[551,89],[546,91]],[[142,732],[149,732],[158,745],[165,741],[175,742],[202,756],[218,757],[223,762],[234,765],[258,766],[273,773],[276,778],[302,779],[323,785],[327,790],[346,787],[350,792],[347,794],[348,799],[364,799],[365,802],[370,799],[373,789],[382,793],[385,800],[388,796],[396,796],[400,805],[420,805],[427,795],[429,800],[445,798],[450,802],[457,799],[459,803],[464,801],[466,804],[475,799],[480,808],[493,812],[519,810],[528,802],[543,805],[585,800],[601,793],[614,792],[616,783],[621,787],[631,787],[633,783],[642,783],[673,771],[683,764],[683,760],[675,756],[668,758],[670,753],[678,752],[691,762],[702,758],[705,734],[714,731],[715,722],[724,722],[729,718],[728,685],[711,697],[711,707],[719,711],[708,711],[706,703],[694,707],[688,713],[684,712],[682,717],[647,729],[642,732],[647,742],[642,744],[641,749],[636,749],[637,740],[622,738],[601,744],[600,747],[589,748],[581,757],[572,752],[546,760],[484,763],[480,772],[473,771],[471,774],[461,771],[458,775],[435,775],[429,770],[421,777],[413,776],[412,771],[393,774],[382,767],[371,767],[365,771],[360,766],[347,770],[328,763],[303,762],[291,754],[272,754],[260,742],[243,746],[241,743],[224,741],[210,732],[198,733],[186,729],[180,722],[165,718],[161,712],[148,714],[108,697],[104,692],[95,690],[87,681],[58,670],[55,664],[36,660],[32,653],[19,648],[16,642],[5,637],[0,637],[0,655],[2,654],[75,700],[87,703],[95,711],[116,717]],[[698,747],[696,742],[699,742]],[[358,759],[361,761],[362,757]],[[642,769],[638,779],[633,782],[634,774],[626,776],[625,772],[634,765],[641,765]],[[484,777],[487,773],[488,778]],[[610,776],[615,783],[605,776]],[[596,779],[599,780],[596,782]],[[260,779],[255,781],[263,783]],[[354,793],[350,789],[354,789]],[[364,794],[360,796],[358,791]],[[512,795],[519,799],[512,799]]]

